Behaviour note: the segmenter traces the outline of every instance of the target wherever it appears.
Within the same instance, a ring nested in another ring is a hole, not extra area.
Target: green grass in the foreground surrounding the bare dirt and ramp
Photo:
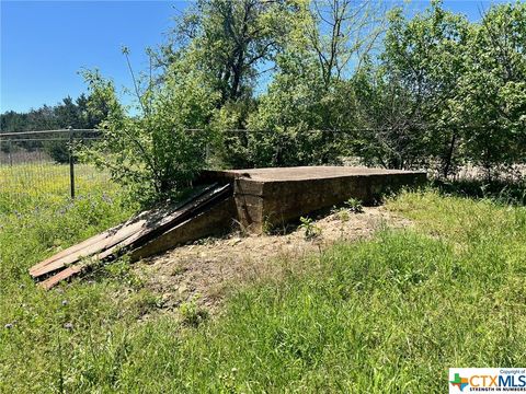
[[[89,189],[0,213],[1,392],[443,393],[449,367],[526,363],[524,207],[404,193],[388,208],[414,228],[310,256],[194,326],[192,305],[144,321],[158,300],[125,263],[35,288],[32,264],[132,211]]]

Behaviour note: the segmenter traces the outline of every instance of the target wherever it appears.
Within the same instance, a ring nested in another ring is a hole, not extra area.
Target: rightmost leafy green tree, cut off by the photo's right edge
[[[526,4],[493,5],[469,43],[458,113],[466,157],[491,178],[526,160]]]

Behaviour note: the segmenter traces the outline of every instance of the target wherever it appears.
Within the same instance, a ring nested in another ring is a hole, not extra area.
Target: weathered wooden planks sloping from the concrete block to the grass
[[[30,275],[39,280],[39,286],[50,289],[96,260],[111,260],[124,253],[137,251],[170,229],[231,197],[232,193],[230,184],[206,186],[179,206],[141,212],[125,223],[46,258],[31,267]]]

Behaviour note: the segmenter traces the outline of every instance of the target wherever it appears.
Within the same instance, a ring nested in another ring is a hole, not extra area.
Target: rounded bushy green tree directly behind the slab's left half
[[[320,164],[329,147],[320,130],[323,124],[323,80],[315,59],[285,54],[279,72],[260,97],[248,128],[249,162],[255,166]]]

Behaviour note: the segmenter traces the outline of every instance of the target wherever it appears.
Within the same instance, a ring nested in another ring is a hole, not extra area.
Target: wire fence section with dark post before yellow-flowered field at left
[[[100,139],[93,129],[60,129],[0,134],[0,197],[25,199],[89,192],[108,179],[107,173],[79,163],[80,144]]]

